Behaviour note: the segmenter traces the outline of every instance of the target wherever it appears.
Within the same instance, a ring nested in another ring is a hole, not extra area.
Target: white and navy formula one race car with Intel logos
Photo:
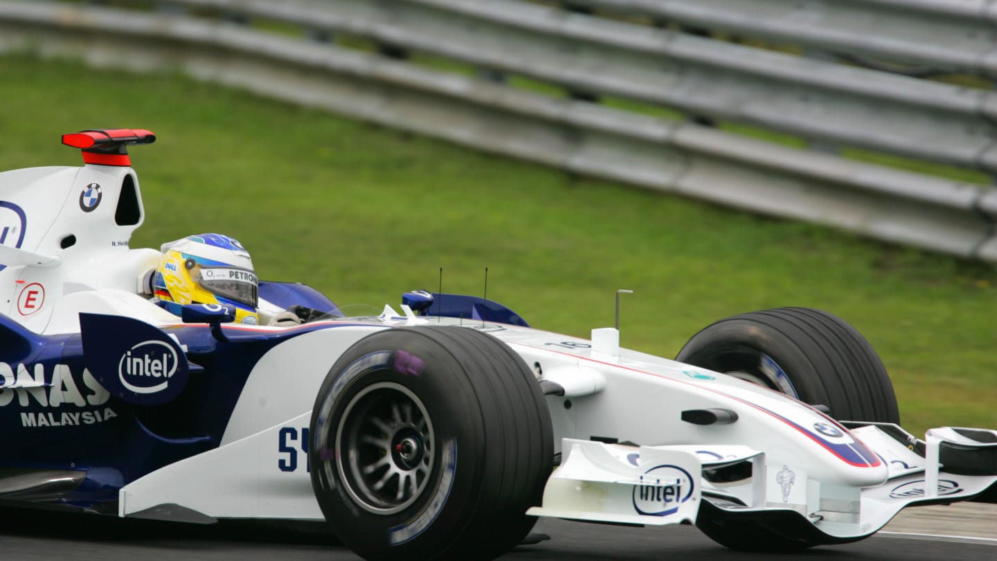
[[[904,432],[874,351],[823,311],[720,320],[676,361],[483,298],[413,291],[345,317],[176,247],[164,265],[129,248],[145,214],[126,146],[154,140],[66,135],[83,168],[0,174],[4,504],[324,520],[365,558],[424,560],[494,558],[538,516],[794,550],[995,500],[997,431]],[[219,298],[165,306],[149,273],[170,266]],[[230,301],[311,311],[234,322]]]

